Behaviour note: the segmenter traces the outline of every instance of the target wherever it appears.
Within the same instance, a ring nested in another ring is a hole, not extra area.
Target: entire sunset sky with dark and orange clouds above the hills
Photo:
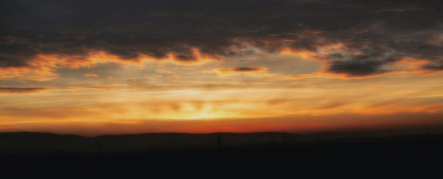
[[[0,1],[0,131],[443,124],[441,1]]]

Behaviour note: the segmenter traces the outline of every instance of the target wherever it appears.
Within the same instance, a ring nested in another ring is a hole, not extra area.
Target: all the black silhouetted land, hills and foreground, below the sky
[[[443,175],[443,135],[323,136],[329,138],[276,132],[222,133],[220,138],[217,133],[98,138],[1,133],[0,165],[3,176],[59,178],[441,178]],[[157,141],[152,142],[154,139]],[[252,139],[255,141],[251,142]],[[142,141],[146,144],[140,144]],[[71,145],[77,148],[67,150]]]

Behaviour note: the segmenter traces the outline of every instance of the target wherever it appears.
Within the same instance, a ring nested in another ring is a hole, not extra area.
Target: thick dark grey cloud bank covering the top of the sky
[[[405,56],[441,66],[443,45],[429,40],[442,34],[442,3],[2,0],[0,66],[25,66],[41,53],[84,55],[88,50],[124,59],[174,52],[178,60],[192,61],[193,47],[226,56],[238,54],[230,47],[243,42],[270,52],[283,47],[316,51],[342,42],[364,52],[329,56],[329,70],[348,75],[383,73],[383,64]]]

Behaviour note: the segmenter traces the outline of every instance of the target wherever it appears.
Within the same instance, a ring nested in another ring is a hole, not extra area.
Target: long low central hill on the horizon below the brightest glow
[[[104,151],[143,151],[149,149],[216,148],[218,136],[222,146],[248,146],[283,143],[296,134],[282,132],[256,133],[144,133],[140,135],[107,135],[102,141]]]

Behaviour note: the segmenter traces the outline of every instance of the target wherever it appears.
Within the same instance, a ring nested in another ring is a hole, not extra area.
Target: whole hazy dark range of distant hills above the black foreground
[[[432,135],[440,138],[440,135]],[[374,144],[386,141],[420,141],[429,135],[358,137],[344,133],[325,132],[298,135],[283,132],[254,133],[142,133],[136,135],[105,135],[82,137],[40,132],[0,133],[0,152],[133,152],[182,149],[215,149],[248,146],[279,146],[347,144],[361,141]],[[220,140],[219,140],[220,139]]]

